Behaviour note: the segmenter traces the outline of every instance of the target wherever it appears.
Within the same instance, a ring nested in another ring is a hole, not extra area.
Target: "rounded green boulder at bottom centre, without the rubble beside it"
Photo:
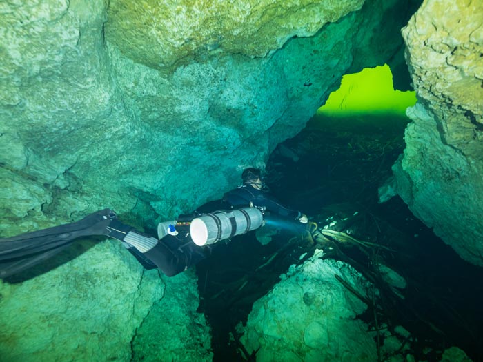
[[[361,294],[365,282],[350,266],[312,259],[256,301],[242,343],[257,361],[375,361],[367,326],[354,319],[366,309],[334,274]]]

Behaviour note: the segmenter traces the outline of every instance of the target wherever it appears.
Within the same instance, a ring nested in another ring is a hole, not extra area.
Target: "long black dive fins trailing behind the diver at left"
[[[0,238],[0,278],[17,274],[49,259],[79,237],[108,235],[110,230],[107,226],[115,217],[115,212],[104,209],[75,223]]]

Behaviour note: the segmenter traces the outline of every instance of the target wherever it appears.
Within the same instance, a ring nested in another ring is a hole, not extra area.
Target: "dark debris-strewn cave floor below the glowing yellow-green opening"
[[[214,361],[244,361],[235,326],[246,323],[253,302],[279,281],[289,265],[322,248],[326,258],[346,261],[377,281],[373,264],[383,260],[404,276],[404,299],[385,292],[375,301],[377,319],[411,332],[406,343],[417,359],[439,361],[453,345],[483,361],[483,268],[466,263],[393,197],[377,203],[377,188],[391,175],[404,148],[408,119],[391,115],[329,119],[314,117],[293,139],[273,152],[266,183],[285,205],[302,210],[319,226],[383,245],[320,245],[304,228],[279,229],[266,245],[255,233],[217,245],[197,266],[201,303],[213,332]],[[342,221],[343,219],[346,219]],[[359,316],[375,328],[373,312]],[[233,338],[235,336],[235,338]],[[384,343],[384,341],[382,341]],[[429,349],[427,347],[430,347]]]

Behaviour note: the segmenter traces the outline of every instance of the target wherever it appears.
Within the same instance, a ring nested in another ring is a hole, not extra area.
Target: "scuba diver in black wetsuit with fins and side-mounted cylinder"
[[[121,241],[145,268],[159,268],[166,276],[175,276],[208,257],[212,252],[210,245],[262,227],[266,210],[307,222],[306,215],[284,208],[262,191],[259,170],[244,170],[242,179],[244,185],[224,197],[230,210],[206,214],[195,211],[164,221],[158,225],[157,238],[122,223],[110,209],[99,210],[75,223],[2,238],[0,278],[49,259],[79,237],[95,235]]]

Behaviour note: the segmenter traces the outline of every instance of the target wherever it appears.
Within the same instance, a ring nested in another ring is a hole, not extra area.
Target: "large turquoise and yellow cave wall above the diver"
[[[337,86],[351,64],[355,19],[313,43],[295,39],[291,52],[261,55],[290,37],[315,34],[327,21],[359,10],[362,1],[316,8],[265,1],[253,9],[246,1],[243,24],[234,20],[239,8],[223,1],[215,8],[190,4],[3,4],[3,230],[55,225],[106,206],[126,221],[153,226],[158,215],[173,217],[220,197],[237,185],[246,165],[263,165],[274,145],[302,128],[327,89]],[[228,28],[219,28],[213,14],[226,17]],[[165,16],[199,34],[189,42],[192,57],[178,44],[179,27],[166,26]],[[279,28],[282,18],[292,20]],[[268,23],[261,26],[263,19]],[[224,41],[214,52],[210,41],[222,30]],[[250,50],[254,39],[258,45]],[[304,87],[309,78],[313,86]],[[200,179],[216,182],[200,187]]]

